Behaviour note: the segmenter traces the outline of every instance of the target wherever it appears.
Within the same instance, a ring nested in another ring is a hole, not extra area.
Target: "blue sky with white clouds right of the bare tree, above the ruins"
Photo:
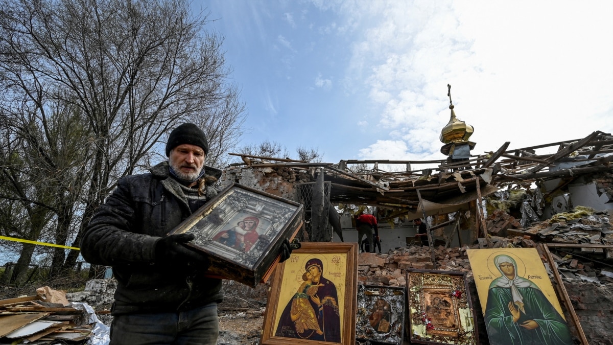
[[[431,160],[455,113],[473,154],[613,131],[613,1],[194,1],[250,133],[323,161]]]

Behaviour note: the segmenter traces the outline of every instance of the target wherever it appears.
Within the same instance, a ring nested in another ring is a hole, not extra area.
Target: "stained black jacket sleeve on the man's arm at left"
[[[135,231],[139,225],[131,178],[120,179],[116,190],[89,221],[81,241],[81,254],[87,262],[107,266],[153,263],[160,238]]]

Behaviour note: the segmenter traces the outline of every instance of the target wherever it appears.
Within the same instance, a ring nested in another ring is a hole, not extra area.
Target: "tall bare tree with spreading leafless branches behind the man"
[[[0,127],[48,160],[25,171],[29,178],[66,196],[41,203],[55,215],[57,244],[78,243],[118,178],[158,158],[161,138],[181,122],[215,119],[207,130],[216,150],[234,144],[243,105],[226,82],[221,37],[206,23],[185,0],[0,0]],[[60,125],[66,114],[78,131],[56,141],[50,123],[69,130]],[[217,138],[219,123],[228,126]],[[65,181],[48,184],[64,145],[78,145],[78,159],[60,172]],[[53,266],[70,268],[77,256],[72,250],[64,260],[58,249]]]

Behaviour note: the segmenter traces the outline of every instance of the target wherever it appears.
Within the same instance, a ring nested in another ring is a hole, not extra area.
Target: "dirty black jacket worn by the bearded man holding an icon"
[[[154,263],[156,242],[190,214],[167,162],[131,175],[100,206],[85,230],[81,254],[113,267],[118,281],[113,314],[181,311],[221,301],[221,280],[188,266]],[[207,185],[207,200],[217,194]]]

